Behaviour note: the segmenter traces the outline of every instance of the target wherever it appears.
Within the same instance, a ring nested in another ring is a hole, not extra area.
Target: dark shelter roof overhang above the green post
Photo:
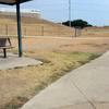
[[[23,3],[23,2],[27,2],[27,1],[31,1],[31,0],[0,0],[0,3],[13,5],[16,3]]]

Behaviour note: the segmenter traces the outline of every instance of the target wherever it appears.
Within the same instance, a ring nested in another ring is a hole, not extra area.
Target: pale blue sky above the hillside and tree
[[[109,25],[109,0],[71,0],[70,5],[72,21],[82,19],[93,25]],[[52,22],[69,20],[69,0],[33,0],[21,4],[21,8],[39,10],[44,19]]]

